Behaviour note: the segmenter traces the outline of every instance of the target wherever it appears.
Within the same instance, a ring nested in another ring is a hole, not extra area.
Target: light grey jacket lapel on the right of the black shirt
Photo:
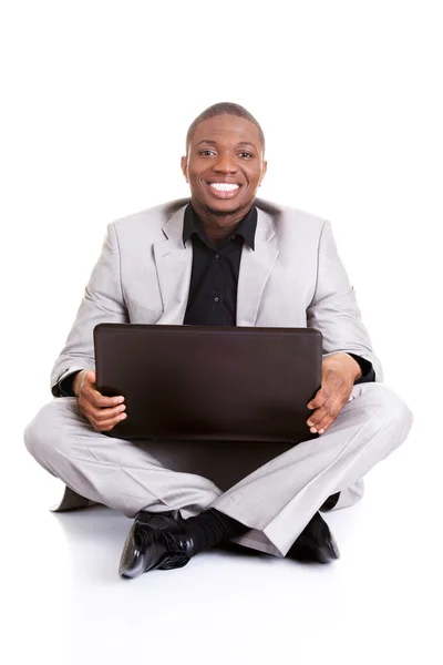
[[[255,250],[244,244],[237,290],[237,326],[255,326],[266,283],[278,257],[270,215],[258,208]]]

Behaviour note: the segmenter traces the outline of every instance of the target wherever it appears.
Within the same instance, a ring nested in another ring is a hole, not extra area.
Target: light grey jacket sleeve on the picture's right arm
[[[323,336],[323,357],[339,351],[354,354],[372,364],[375,381],[383,380],[354,289],[338,255],[330,222],[324,222],[320,235],[317,285],[307,320],[309,327],[317,328]]]

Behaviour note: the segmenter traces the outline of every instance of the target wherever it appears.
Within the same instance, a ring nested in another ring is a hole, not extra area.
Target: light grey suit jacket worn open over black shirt
[[[93,329],[100,323],[183,324],[193,263],[183,244],[187,198],[107,226],[66,344],[51,374],[51,389],[80,369],[94,369]],[[382,369],[344,267],[331,225],[307,213],[256,200],[255,250],[243,247],[237,326],[313,327],[323,354],[347,351]]]

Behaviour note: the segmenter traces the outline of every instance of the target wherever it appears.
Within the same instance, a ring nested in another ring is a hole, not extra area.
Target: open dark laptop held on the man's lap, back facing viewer
[[[99,324],[100,392],[125,397],[111,437],[299,442],[321,385],[315,328]]]

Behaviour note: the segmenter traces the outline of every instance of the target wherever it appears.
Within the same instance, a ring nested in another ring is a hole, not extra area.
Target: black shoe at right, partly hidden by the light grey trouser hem
[[[287,556],[296,561],[318,563],[329,563],[340,557],[336,540],[320,513],[317,512],[305,526]]]

